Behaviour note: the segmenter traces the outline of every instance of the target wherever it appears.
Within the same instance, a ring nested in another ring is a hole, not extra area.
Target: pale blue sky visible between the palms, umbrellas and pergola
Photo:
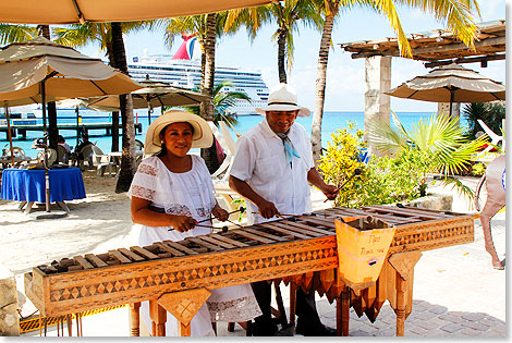
[[[481,17],[475,22],[504,20],[508,10],[507,0],[479,1]],[[507,8],[507,10],[505,10]],[[419,10],[398,8],[399,17],[405,34],[444,28],[444,23],[437,22],[432,15]],[[230,37],[217,40],[216,65],[237,66],[251,71],[260,71],[267,86],[271,88],[279,83],[277,68],[277,44],[271,40],[277,27],[263,27],[258,36],[251,41],[245,29]],[[339,44],[395,37],[387,19],[366,9],[352,9],[338,16],[332,41],[334,47],[329,52],[327,70],[327,87],[325,111],[364,111],[365,93],[365,59],[352,59]],[[181,44],[176,38],[174,46],[169,48],[163,42],[161,32],[141,32],[125,36],[125,49],[129,61],[134,56],[142,56],[147,49],[148,54],[173,54]],[[298,102],[313,110],[315,105],[315,81],[317,73],[320,33],[300,26],[294,34],[294,62],[288,83],[297,90]],[[99,46],[89,45],[78,49],[81,52],[103,58]],[[466,63],[484,76],[507,83],[505,61],[490,61],[487,68],[479,63]],[[425,75],[426,69],[422,61],[393,58],[391,62],[391,87],[397,87],[417,75]],[[436,102],[426,102],[391,97],[391,110],[395,112],[437,112]]]

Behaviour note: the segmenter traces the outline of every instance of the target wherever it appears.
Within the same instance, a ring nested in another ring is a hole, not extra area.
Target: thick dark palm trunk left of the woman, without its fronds
[[[112,23],[112,56],[114,65],[121,72],[127,73],[126,53],[124,50],[123,33],[121,23]],[[135,172],[135,127],[133,122],[133,102],[131,95],[120,95],[119,105],[122,118],[123,143],[121,170],[119,172],[115,193],[127,192],[132,184],[133,174]]]

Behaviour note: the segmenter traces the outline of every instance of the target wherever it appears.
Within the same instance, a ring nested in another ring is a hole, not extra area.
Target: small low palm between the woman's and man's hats
[[[234,127],[239,124],[236,113],[231,113],[230,109],[236,106],[236,101],[246,100],[251,102],[251,97],[244,91],[222,91],[224,87],[231,87],[232,82],[223,81],[217,84],[214,88],[214,123],[219,126],[219,121],[224,121],[229,127]],[[200,114],[198,106],[184,107],[188,112]]]

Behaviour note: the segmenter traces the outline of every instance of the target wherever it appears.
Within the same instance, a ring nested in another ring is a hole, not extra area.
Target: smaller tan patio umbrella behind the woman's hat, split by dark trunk
[[[161,106],[199,105],[209,97],[205,94],[171,86],[169,83],[150,81],[139,82],[144,88],[132,91],[133,108],[148,109],[148,124],[151,123],[153,109]],[[84,106],[97,111],[119,111],[119,97],[105,96],[84,99]]]

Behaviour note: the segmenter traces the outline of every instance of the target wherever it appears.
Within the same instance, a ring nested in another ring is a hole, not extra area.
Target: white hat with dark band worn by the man
[[[254,109],[256,113],[265,115],[266,111],[295,111],[298,117],[309,117],[307,108],[297,105],[297,94],[288,84],[281,83],[270,90],[267,106]]]

